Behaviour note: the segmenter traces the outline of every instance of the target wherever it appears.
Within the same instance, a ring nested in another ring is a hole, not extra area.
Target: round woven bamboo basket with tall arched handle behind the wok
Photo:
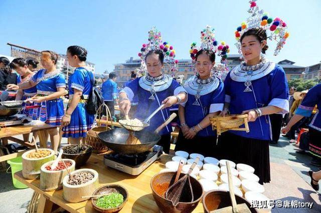
[[[108,126],[108,124],[106,123],[106,126],[102,126],[101,125],[101,113],[103,112],[103,107],[105,107],[106,109],[106,119],[108,120],[108,115],[110,117],[110,122],[111,122],[111,127]],[[108,106],[103,103],[99,106],[98,110],[97,110],[97,114],[99,113],[98,117],[98,122],[97,125],[93,128],[91,128],[86,135],[86,144],[87,145],[91,145],[93,148],[93,152],[95,153],[103,153],[108,151],[108,147],[102,142],[101,139],[99,139],[98,137],[98,133],[101,131],[107,131],[110,130],[112,128],[112,117],[111,117],[111,113],[110,110],[108,108]]]

